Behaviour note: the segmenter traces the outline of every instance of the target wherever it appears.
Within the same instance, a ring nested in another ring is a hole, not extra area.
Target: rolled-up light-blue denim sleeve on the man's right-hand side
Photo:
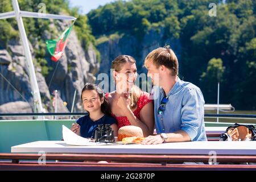
[[[189,88],[184,94],[181,108],[181,130],[191,141],[197,136],[204,121],[204,97],[200,89]]]

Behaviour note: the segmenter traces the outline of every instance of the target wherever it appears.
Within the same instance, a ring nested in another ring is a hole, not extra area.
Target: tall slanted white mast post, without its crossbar
[[[27,61],[28,75],[30,77],[31,89],[32,89],[33,98],[34,98],[34,105],[36,105],[36,109],[39,113],[43,113],[44,109],[42,106],[42,101],[41,101],[40,92],[38,88],[38,82],[36,80],[35,68],[32,61],[30,47],[28,46],[28,39],[27,39],[25,28],[24,28],[22,16],[20,15],[18,0],[11,0],[11,2],[13,4],[13,9],[14,9],[16,20],[18,23],[20,37],[22,39],[22,46],[24,48],[24,53]]]

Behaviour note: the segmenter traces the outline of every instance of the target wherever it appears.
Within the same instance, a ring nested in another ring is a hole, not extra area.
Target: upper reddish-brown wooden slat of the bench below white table
[[[12,160],[38,160],[38,154],[13,154],[0,153],[1,159]],[[113,161],[113,162],[147,162],[147,163],[183,163],[183,162],[208,162],[211,155],[141,155],[141,154],[46,154],[46,160],[65,161]],[[256,155],[217,155],[217,162],[223,163],[256,163]]]

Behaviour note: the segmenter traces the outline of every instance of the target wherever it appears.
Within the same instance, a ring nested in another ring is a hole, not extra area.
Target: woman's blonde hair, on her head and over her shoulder
[[[135,59],[128,55],[119,55],[112,61],[112,69],[114,71],[119,72],[122,69],[122,65],[125,63],[136,63]],[[130,108],[135,108],[137,106],[137,102],[139,100],[139,97],[141,97],[141,89],[138,88],[138,86],[133,85],[133,87],[130,90]]]

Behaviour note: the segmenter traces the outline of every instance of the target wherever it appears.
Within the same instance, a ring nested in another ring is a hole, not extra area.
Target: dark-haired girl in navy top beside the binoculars
[[[71,130],[84,138],[94,138],[94,131],[98,125],[110,124],[114,135],[117,136],[118,127],[116,120],[111,117],[110,107],[104,98],[103,91],[95,84],[86,83],[81,94],[85,115],[73,123]]]

